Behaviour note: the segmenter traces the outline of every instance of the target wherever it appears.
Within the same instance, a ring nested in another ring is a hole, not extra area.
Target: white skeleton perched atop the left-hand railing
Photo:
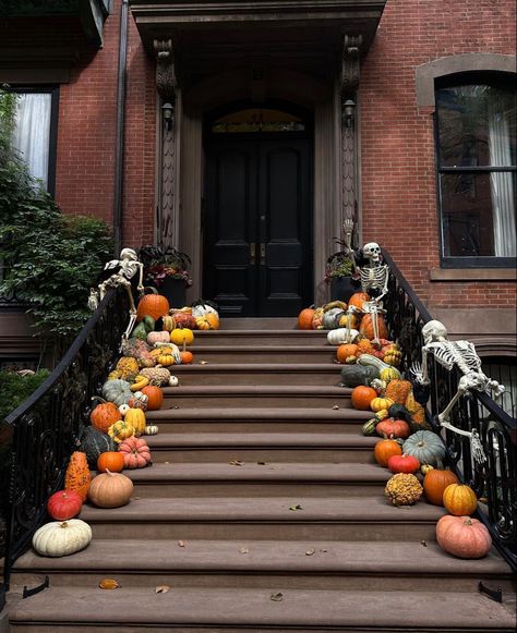
[[[106,281],[103,281],[103,283],[99,284],[98,295],[96,291],[93,289],[91,290],[88,307],[91,307],[91,309],[96,309],[99,301],[103,301],[108,289],[117,288],[119,285],[125,288],[125,292],[128,293],[130,302],[130,321],[125,332],[122,334],[123,343],[125,340],[128,340],[129,334],[136,321],[136,307],[134,305],[130,280],[136,273],[139,273],[139,285],[136,287],[136,290],[140,294],[142,294],[144,292],[144,287],[142,284],[144,279],[144,265],[139,261],[139,257],[133,248],[122,248],[120,252],[120,259],[111,259],[104,267],[105,270],[113,270],[115,268],[118,268],[117,272],[113,272],[113,275],[111,275]]]

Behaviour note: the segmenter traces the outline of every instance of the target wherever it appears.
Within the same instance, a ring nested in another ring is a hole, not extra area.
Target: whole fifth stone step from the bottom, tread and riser
[[[376,437],[349,433],[159,433],[146,436],[155,463],[339,462],[373,463]],[[239,455],[237,458],[236,455]]]

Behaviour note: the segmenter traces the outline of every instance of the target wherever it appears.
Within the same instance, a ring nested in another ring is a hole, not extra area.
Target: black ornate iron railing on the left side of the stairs
[[[91,399],[117,361],[129,322],[129,299],[111,290],[52,374],[13,411],[4,582],[43,523],[47,499],[59,490],[71,453],[89,424]]]

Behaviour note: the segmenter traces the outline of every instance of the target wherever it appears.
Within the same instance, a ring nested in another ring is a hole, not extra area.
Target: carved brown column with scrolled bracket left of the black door
[[[156,242],[163,246],[178,246],[178,187],[177,187],[177,92],[175,57],[170,39],[155,39],[156,88],[160,96],[158,196],[156,208]]]

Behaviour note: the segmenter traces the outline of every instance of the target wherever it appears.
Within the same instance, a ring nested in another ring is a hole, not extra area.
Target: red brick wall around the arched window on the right
[[[429,281],[440,267],[433,122],[414,82],[417,65],[442,57],[515,54],[515,23],[514,0],[388,0],[361,69],[363,238],[389,249],[429,305],[516,305],[515,282]]]

